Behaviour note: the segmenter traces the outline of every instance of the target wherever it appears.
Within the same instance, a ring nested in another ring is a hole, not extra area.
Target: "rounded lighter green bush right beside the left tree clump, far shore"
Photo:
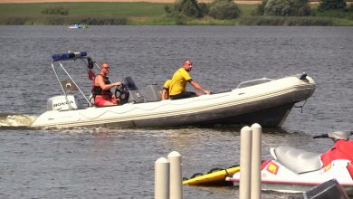
[[[234,19],[239,16],[240,9],[233,0],[214,0],[209,9],[210,16],[215,19]]]

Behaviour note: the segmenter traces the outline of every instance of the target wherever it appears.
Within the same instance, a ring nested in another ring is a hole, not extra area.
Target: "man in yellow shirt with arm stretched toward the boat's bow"
[[[201,90],[205,94],[211,94],[209,90],[205,90],[202,86],[196,83],[196,81],[193,81],[189,74],[189,71],[191,71],[192,68],[193,62],[191,62],[191,60],[186,60],[184,61],[183,66],[174,73],[169,85],[169,98],[171,100],[191,98],[200,95],[195,92],[186,91],[186,82],[189,82],[196,90]]]

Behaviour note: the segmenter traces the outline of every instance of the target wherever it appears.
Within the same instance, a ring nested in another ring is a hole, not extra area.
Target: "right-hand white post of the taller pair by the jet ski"
[[[262,127],[255,123],[252,125],[252,194],[251,199],[261,199],[261,137]]]

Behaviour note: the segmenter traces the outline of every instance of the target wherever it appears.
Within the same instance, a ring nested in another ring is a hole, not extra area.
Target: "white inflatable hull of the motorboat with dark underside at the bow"
[[[184,100],[128,103],[122,106],[51,110],[33,128],[158,128],[195,125],[237,125],[257,122],[281,126],[296,102],[307,100],[315,82],[296,76]]]

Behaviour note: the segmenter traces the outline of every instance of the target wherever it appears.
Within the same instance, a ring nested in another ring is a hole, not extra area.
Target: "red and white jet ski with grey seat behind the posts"
[[[353,141],[348,140],[352,132],[332,132],[314,138],[329,137],[333,147],[323,154],[308,152],[293,147],[271,148],[274,159],[262,162],[262,190],[301,193],[315,185],[336,179],[353,195]],[[239,185],[240,172],[227,181]]]

